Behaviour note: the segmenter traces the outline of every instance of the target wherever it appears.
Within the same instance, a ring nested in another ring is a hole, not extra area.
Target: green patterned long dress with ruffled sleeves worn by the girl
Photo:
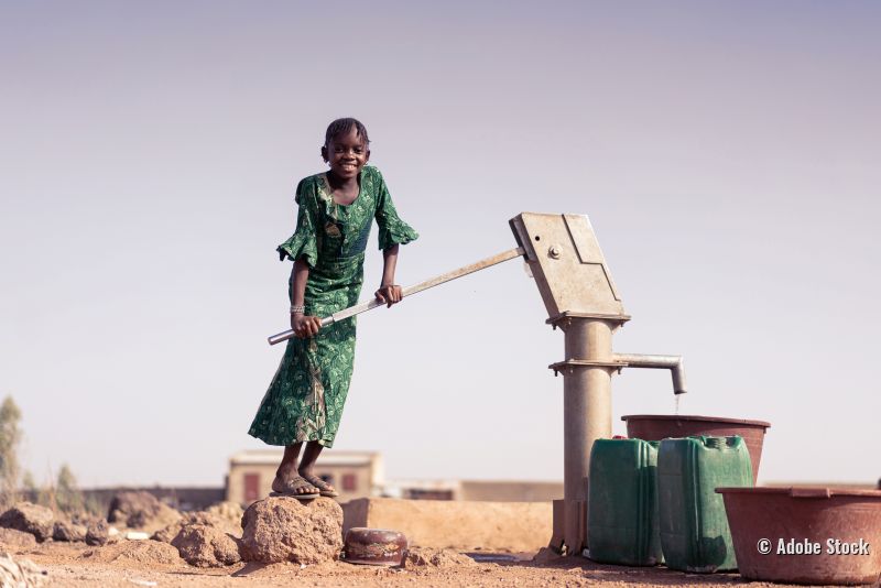
[[[296,188],[296,232],[278,251],[282,260],[305,257],[309,265],[307,315],[326,317],[358,303],[374,218],[380,249],[418,237],[398,217],[379,170],[363,167],[359,181],[358,198],[347,206],[334,203],[326,174],[306,177]],[[307,440],[334,445],[351,381],[355,326],[351,317],[322,328],[313,338],[287,341],[248,431],[251,436],[270,445]]]

